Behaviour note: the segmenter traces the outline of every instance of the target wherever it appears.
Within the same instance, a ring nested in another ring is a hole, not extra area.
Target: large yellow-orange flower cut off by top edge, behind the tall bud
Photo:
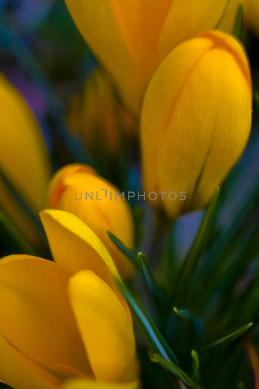
[[[65,0],[78,30],[139,114],[156,68],[202,30],[231,31],[237,0]]]

